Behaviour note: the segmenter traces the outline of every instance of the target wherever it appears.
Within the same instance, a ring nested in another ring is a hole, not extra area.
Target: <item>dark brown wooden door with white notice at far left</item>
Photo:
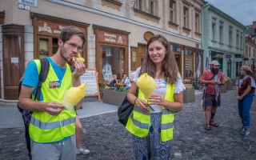
[[[24,72],[24,26],[2,26],[4,99],[18,99],[18,83]]]

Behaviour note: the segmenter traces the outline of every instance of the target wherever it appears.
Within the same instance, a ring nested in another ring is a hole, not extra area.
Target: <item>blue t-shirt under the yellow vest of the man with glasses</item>
[[[58,79],[56,79],[56,81],[62,82],[62,79],[66,72],[66,67],[62,68],[62,67],[58,66],[55,62],[53,62],[51,60],[50,57],[48,57],[47,60],[50,62],[50,65],[53,66],[54,72],[57,74]],[[22,85],[35,87],[33,94],[35,94],[36,86],[38,85],[38,81],[39,81],[38,76],[39,76],[38,75],[38,66],[36,65],[36,63],[34,61],[32,61],[26,66],[24,78],[22,80]],[[42,100],[43,100],[43,97],[41,94],[40,101],[42,101]]]

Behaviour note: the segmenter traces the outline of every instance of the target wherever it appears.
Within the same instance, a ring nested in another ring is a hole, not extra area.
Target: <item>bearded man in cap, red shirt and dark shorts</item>
[[[205,70],[200,79],[202,84],[206,84],[206,130],[210,130],[210,126],[218,127],[218,123],[214,122],[214,116],[217,106],[221,105],[220,86],[225,84],[223,74],[218,70],[219,66],[218,61],[210,62],[210,70]]]

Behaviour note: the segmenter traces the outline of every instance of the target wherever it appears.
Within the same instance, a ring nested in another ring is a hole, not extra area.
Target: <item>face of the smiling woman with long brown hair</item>
[[[148,51],[154,64],[162,64],[163,59],[166,57],[166,47],[162,45],[162,42],[159,40],[151,42]]]

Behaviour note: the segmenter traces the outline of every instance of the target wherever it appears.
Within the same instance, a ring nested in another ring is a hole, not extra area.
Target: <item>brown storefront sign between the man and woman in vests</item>
[[[127,36],[121,34],[112,34],[105,31],[98,31],[99,42],[110,42],[118,45],[127,45]]]

